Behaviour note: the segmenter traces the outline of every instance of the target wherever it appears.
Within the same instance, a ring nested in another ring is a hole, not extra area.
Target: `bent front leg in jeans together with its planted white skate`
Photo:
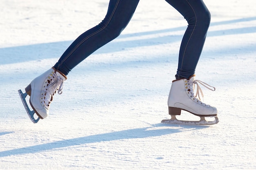
[[[217,108],[201,102],[198,93],[194,95],[194,85],[197,85],[197,90],[199,90],[201,94],[202,90],[199,88],[198,84],[202,84],[205,87],[208,85],[199,80],[195,80],[194,73],[209,27],[210,13],[202,0],[166,1],[184,16],[189,25],[180,46],[178,69],[175,75],[176,80],[172,82],[168,97],[168,110],[171,119],[162,120],[162,122],[193,125],[217,124],[219,121]],[[199,99],[196,98],[197,95]],[[176,119],[176,115],[180,115],[181,110],[199,116],[200,121],[183,121]],[[215,117],[215,120],[207,121],[205,117]]]

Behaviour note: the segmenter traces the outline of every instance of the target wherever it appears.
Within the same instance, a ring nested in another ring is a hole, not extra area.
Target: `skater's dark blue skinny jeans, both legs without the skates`
[[[195,74],[202,53],[211,14],[202,0],[166,0],[179,11],[188,22],[179,53],[176,79]],[[104,20],[81,34],[63,53],[54,67],[67,75],[86,57],[117,38],[127,26],[139,0],[110,0]],[[161,12],[161,11],[159,11]]]

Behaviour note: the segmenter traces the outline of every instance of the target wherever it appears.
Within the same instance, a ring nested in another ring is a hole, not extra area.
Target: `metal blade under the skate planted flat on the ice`
[[[171,119],[162,120],[161,123],[164,124],[185,124],[185,125],[213,125],[218,124],[218,117],[214,117],[215,120],[207,121],[205,117],[200,117],[199,121],[187,121],[187,120],[178,120],[175,115],[171,115]]]

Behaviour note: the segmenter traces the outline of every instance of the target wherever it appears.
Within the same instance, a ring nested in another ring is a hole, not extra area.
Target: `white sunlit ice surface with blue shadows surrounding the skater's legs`
[[[18,89],[51,68],[108,0],[0,0],[0,169],[256,169],[255,0],[205,0],[211,26],[196,70],[213,126],[161,124],[186,21],[141,0],[116,40],[75,67],[33,124]],[[197,119],[183,112],[180,119]]]

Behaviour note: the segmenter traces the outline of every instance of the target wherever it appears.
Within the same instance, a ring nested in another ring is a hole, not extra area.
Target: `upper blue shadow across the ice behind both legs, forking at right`
[[[214,22],[211,25],[221,25],[221,24],[231,24],[235,22],[246,22],[256,20],[256,17],[251,18],[242,18],[238,20]],[[156,31],[145,31],[141,33],[132,33],[120,35],[119,38],[128,38],[142,35],[150,35],[156,33],[167,33],[173,31],[185,30],[186,27],[177,27],[172,29],[162,29]],[[238,29],[226,29],[220,31],[209,31],[208,35],[211,36],[222,36],[222,35],[234,35],[234,34],[243,34],[243,33],[255,33],[256,27],[246,27]],[[118,38],[117,38],[118,39]],[[182,35],[166,35],[157,38],[148,38],[143,40],[127,40],[121,42],[110,42],[105,46],[101,47],[99,50],[95,51],[96,53],[112,53],[116,51],[122,51],[123,48],[134,48],[138,46],[151,46],[156,44],[167,44],[172,42],[181,41]],[[12,64],[18,62],[27,62],[31,60],[42,60],[48,58],[59,58],[65,49],[72,43],[72,41],[62,41],[62,42],[51,42],[43,44],[33,44],[27,46],[16,46],[16,47],[7,47],[0,49],[0,64]]]

